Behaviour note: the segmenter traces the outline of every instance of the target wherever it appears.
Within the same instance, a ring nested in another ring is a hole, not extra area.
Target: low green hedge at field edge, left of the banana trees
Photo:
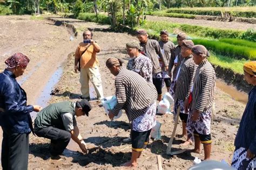
[[[79,13],[77,19],[100,24],[111,24],[109,17],[100,13],[98,14],[98,17],[96,17],[94,13]]]

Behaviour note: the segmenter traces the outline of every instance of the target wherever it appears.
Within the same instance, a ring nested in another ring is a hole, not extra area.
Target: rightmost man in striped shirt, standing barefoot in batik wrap
[[[210,56],[202,45],[192,48],[194,62],[198,65],[192,92],[185,101],[185,110],[190,113],[187,119],[188,135],[194,134],[194,149],[191,152],[200,153],[200,143],[204,145],[204,160],[210,159],[211,154],[211,114],[214,107],[215,71],[207,60]],[[188,105],[188,103],[190,103]]]

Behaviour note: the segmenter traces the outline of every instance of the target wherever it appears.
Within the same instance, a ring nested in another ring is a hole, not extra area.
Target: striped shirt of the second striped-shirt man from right
[[[194,75],[196,74],[198,65],[194,63],[193,55],[189,55],[184,58],[180,65],[180,72],[175,84],[175,100],[185,101],[190,96],[191,89],[193,87]]]

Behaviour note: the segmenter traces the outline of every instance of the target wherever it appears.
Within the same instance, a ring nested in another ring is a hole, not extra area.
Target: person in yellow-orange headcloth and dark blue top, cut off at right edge
[[[256,61],[244,65],[245,81],[253,86],[248,103],[235,137],[235,151],[232,166],[235,169],[255,169],[256,167]]]

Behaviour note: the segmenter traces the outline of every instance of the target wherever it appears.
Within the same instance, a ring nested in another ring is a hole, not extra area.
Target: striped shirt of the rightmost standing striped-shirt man
[[[215,71],[208,60],[199,63],[192,89],[191,110],[212,111],[215,94]]]

